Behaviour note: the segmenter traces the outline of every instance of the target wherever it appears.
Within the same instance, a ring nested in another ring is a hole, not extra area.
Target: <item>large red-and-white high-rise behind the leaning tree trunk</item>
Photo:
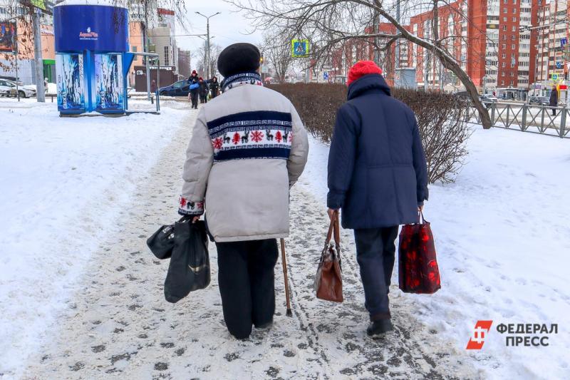
[[[536,36],[520,33],[537,21],[538,0],[458,0],[438,9],[439,36],[476,86],[529,88],[534,82]],[[533,12],[534,9],[534,12]],[[432,39],[433,12],[410,18],[410,29]],[[437,57],[420,46],[408,47],[410,67],[419,86],[439,87],[453,81]]]

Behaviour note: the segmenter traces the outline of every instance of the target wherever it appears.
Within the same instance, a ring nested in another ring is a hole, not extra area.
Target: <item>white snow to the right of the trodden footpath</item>
[[[467,351],[485,378],[567,378],[570,140],[474,126],[467,148],[456,182],[430,185],[425,205],[442,289],[403,294],[397,302],[412,306],[428,328],[463,351],[475,322],[492,319],[483,349]],[[312,139],[309,155],[301,184],[324,207],[328,147]],[[501,323],[559,326],[549,346],[512,347],[497,332]]]

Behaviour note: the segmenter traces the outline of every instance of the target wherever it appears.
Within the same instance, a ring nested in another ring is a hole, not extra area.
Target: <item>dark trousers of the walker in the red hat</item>
[[[388,291],[394,269],[398,226],[354,230],[366,310],[371,321],[390,318]]]

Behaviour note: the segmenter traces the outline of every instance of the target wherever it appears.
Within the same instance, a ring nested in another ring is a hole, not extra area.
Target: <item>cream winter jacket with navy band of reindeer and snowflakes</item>
[[[252,82],[200,109],[186,152],[179,213],[205,209],[216,242],[289,235],[289,189],[309,153],[291,102]]]

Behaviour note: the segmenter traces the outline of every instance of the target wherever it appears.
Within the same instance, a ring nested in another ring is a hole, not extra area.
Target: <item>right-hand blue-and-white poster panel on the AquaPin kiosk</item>
[[[95,111],[123,111],[123,61],[120,54],[95,54]]]

